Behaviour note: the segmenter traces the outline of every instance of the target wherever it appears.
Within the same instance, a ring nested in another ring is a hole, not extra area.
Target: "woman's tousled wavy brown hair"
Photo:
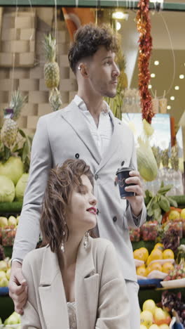
[[[41,233],[43,245],[50,245],[57,252],[62,245],[62,236],[68,236],[64,212],[70,205],[71,192],[76,186],[82,186],[81,175],[88,176],[93,184],[93,174],[83,160],[66,160],[61,167],[50,169],[50,175],[43,198],[41,212]]]

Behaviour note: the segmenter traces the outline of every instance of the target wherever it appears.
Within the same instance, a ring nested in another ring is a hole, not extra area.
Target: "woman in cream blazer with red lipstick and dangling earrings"
[[[114,246],[88,233],[96,226],[96,203],[83,160],[51,169],[41,213],[44,247],[22,265],[28,283],[22,329],[130,329]]]

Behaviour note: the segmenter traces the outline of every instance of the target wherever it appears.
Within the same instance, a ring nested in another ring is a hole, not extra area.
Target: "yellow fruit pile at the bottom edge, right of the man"
[[[170,329],[170,314],[156,306],[153,299],[147,299],[140,314],[140,329]]]

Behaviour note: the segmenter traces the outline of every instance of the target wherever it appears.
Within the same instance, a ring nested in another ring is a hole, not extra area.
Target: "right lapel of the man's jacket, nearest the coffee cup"
[[[104,167],[104,165],[107,164],[107,162],[114,156],[114,153],[116,152],[116,150],[118,148],[118,141],[120,141],[121,122],[118,122],[115,119],[115,117],[111,111],[109,111],[109,115],[111,116],[111,121],[114,126],[113,134],[111,136],[109,148],[104,153],[104,156],[102,157],[102,161],[100,162],[99,166],[97,167],[97,172],[99,172],[99,170],[102,169],[102,167]]]

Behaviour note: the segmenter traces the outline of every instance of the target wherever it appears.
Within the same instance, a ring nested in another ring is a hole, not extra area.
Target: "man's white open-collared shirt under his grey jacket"
[[[96,146],[100,151],[100,155],[104,155],[106,150],[109,148],[109,143],[111,141],[111,136],[113,134],[114,125],[111,120],[111,116],[109,115],[110,108],[107,104],[107,111],[100,112],[99,124],[98,126],[95,123],[93,115],[89,112],[88,108],[85,105],[85,102],[81,97],[76,95],[73,100],[78,106],[79,110],[81,110],[86,123],[90,129],[90,134],[92,134]]]

